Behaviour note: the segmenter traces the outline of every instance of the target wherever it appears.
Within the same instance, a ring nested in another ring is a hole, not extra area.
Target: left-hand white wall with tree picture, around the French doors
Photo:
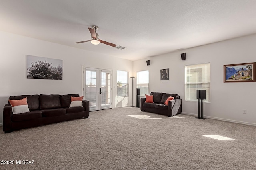
[[[116,71],[132,72],[132,61],[2,31],[0,37],[0,124],[9,96],[74,93],[82,96],[82,66],[112,70],[112,106],[131,105],[131,97],[121,103],[122,98],[116,97]],[[27,79],[26,55],[63,60],[63,80]],[[131,91],[132,88],[129,96]]]

